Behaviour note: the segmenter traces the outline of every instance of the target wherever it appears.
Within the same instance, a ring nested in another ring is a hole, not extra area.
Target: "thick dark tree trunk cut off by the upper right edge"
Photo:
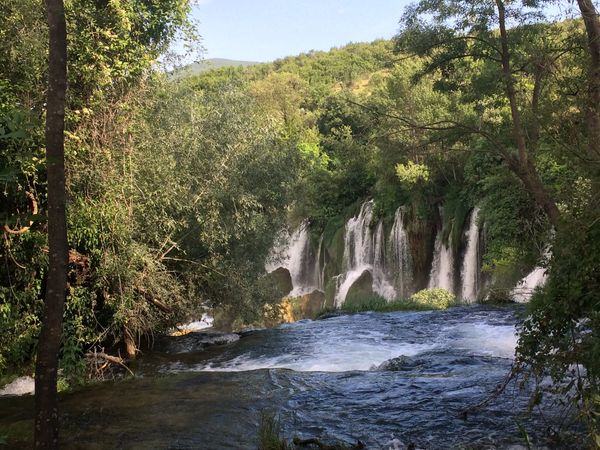
[[[590,54],[588,73],[588,149],[589,156],[600,164],[600,20],[592,0],[577,0],[585,24]]]

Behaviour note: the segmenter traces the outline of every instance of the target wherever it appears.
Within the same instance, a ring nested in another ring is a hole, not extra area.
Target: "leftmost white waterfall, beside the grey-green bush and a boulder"
[[[315,271],[315,265],[319,264],[314,263],[308,220],[305,219],[291,235],[284,232],[279,241],[283,243],[271,252],[265,265],[267,272],[272,272],[278,267],[283,267],[290,272],[293,286],[288,294],[290,297],[298,297],[317,289],[322,290],[322,284]]]

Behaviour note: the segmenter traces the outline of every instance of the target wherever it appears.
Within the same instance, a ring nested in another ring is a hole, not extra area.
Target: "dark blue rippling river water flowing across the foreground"
[[[65,448],[255,449],[261,411],[286,436],[367,448],[511,448],[543,428],[502,383],[514,307],[364,313],[254,332],[207,351],[154,352],[135,379],[62,397]],[[29,426],[31,398],[0,399],[0,430]],[[0,432],[0,434],[2,434]],[[24,444],[25,445],[25,444]]]

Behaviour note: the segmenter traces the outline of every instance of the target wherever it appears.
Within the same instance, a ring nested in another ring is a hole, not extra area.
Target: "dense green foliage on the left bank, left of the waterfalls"
[[[203,305],[260,317],[277,295],[257,280],[301,158],[295,137],[257,113],[260,96],[250,89],[197,89],[154,71],[169,42],[191,30],[187,1],[66,7],[71,250],[61,360],[77,376],[86,352],[123,345],[132,353]],[[41,321],[46,26],[35,2],[2,9],[4,372],[31,362]]]

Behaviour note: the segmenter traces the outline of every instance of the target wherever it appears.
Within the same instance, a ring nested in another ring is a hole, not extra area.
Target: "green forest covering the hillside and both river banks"
[[[577,406],[590,446],[600,445],[600,19],[591,1],[550,20],[546,2],[422,0],[392,40],[188,77],[157,64],[174,39],[194,39],[188,0],[65,7],[65,385],[88,380],[86,354],[134,358],[205,310],[229,328],[283,320],[286,292],[265,276],[282,229],[308,220],[315,245],[322,237],[334,248],[372,200],[373,224],[389,228],[402,206],[411,242],[431,249],[427,230],[439,229],[458,254],[477,207],[489,281],[478,300],[510,301],[549,256],[514,370],[549,375]],[[47,41],[38,2],[2,2],[4,382],[31,373],[43,319]]]

